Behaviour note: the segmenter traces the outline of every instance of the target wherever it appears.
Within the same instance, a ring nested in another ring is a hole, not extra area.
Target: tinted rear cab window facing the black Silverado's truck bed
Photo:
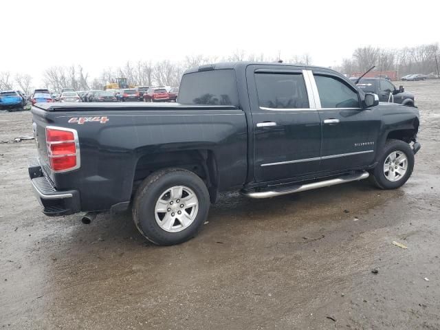
[[[181,78],[181,104],[239,105],[233,69],[210,70],[185,74]]]

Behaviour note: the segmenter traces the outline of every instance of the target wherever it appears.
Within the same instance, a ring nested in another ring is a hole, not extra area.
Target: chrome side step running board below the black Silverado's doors
[[[351,181],[359,181],[369,177],[369,173],[363,171],[361,173],[356,173],[353,175],[343,175],[342,177],[337,177],[336,179],[329,179],[325,181],[313,182],[311,184],[303,184],[301,186],[294,186],[291,188],[285,188],[283,190],[272,190],[272,191],[261,191],[261,192],[242,192],[243,195],[246,195],[251,198],[267,198],[267,197],[276,197],[281,195],[292,194],[294,192],[312,190],[316,188],[335,186],[336,184],[345,184]]]

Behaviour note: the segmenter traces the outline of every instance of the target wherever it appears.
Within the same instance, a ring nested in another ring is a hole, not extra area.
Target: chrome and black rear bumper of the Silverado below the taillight
[[[32,159],[28,172],[36,199],[43,206],[43,213],[50,217],[80,212],[78,190],[56,190],[37,159]]]

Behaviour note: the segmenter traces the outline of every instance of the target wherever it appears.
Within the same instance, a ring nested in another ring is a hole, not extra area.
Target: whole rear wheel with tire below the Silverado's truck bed
[[[137,189],[133,221],[157,245],[183,243],[194,237],[208,217],[210,199],[204,182],[181,168],[158,170]]]

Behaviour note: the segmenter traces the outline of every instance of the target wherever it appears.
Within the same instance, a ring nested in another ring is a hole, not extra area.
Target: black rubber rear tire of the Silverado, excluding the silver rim
[[[199,201],[197,215],[190,225],[179,232],[167,232],[155,219],[155,205],[163,192],[173,186],[190,188]],[[174,245],[192,239],[208,217],[209,192],[204,182],[189,170],[166,168],[148,176],[137,189],[133,200],[133,221],[148,241],[157,245]]]

